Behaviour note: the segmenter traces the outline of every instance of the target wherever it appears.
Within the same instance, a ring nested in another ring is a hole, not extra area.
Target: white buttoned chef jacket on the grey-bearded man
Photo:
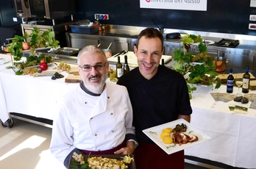
[[[126,87],[106,83],[100,96],[76,87],[57,101],[50,151],[63,163],[74,148],[109,150],[120,145],[126,134],[135,134]]]

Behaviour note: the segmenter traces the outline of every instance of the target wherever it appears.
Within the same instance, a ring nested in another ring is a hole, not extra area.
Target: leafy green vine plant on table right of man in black
[[[191,43],[198,43],[199,54],[193,54],[187,50]],[[183,51],[182,51],[183,50]],[[190,84],[213,85],[216,81],[218,73],[215,70],[216,65],[213,62],[213,57],[207,54],[207,46],[200,35],[186,35],[182,38],[182,50],[174,50],[174,70],[181,73],[183,76],[187,73],[186,78],[188,92],[196,90],[196,87],[191,87]],[[216,87],[221,86],[221,80],[217,79]]]

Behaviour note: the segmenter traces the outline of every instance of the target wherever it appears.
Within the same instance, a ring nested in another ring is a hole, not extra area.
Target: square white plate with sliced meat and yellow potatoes
[[[178,119],[142,131],[167,154],[173,154],[211,138],[184,119]]]

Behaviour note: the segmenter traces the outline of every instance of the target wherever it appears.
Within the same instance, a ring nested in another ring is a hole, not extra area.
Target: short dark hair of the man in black
[[[143,29],[137,38],[137,43],[136,43],[137,48],[139,45],[139,41],[140,41],[141,37],[143,37],[143,36],[148,37],[148,38],[159,37],[159,39],[161,40],[161,43],[162,43],[162,51],[163,51],[163,34],[160,31],[158,31],[158,29],[150,28],[150,27]]]

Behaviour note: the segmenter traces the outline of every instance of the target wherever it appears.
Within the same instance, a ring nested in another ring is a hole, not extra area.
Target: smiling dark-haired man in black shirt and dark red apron
[[[185,168],[184,151],[168,155],[142,132],[179,118],[190,122],[192,109],[185,79],[160,65],[163,35],[157,29],[144,29],[134,51],[139,67],[121,76],[117,84],[127,87],[132,102],[133,125],[139,141],[135,149],[136,168]]]

